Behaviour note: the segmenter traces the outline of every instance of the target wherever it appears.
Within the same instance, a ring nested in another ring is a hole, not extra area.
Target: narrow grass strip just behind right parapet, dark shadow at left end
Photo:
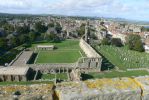
[[[94,78],[116,78],[116,77],[132,77],[132,76],[145,76],[149,75],[149,72],[145,70],[137,70],[137,71],[125,71],[125,72],[100,72],[100,73],[88,73],[82,74],[82,79],[94,79]]]

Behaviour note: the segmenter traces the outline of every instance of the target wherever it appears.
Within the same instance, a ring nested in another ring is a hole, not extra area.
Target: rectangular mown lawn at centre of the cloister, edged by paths
[[[36,64],[38,63],[74,63],[80,58],[79,51],[40,51]]]

